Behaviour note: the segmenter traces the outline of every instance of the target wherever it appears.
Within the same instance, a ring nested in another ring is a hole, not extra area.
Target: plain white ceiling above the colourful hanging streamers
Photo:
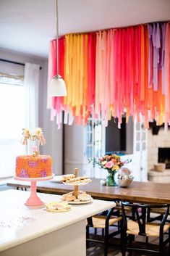
[[[58,0],[59,35],[170,20],[170,0]],[[55,0],[0,0],[0,48],[48,57]]]

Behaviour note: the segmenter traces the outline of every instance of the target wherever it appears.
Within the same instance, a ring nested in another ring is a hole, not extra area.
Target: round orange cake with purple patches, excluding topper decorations
[[[48,155],[38,154],[22,155],[16,158],[16,177],[42,178],[52,175],[52,158]]]

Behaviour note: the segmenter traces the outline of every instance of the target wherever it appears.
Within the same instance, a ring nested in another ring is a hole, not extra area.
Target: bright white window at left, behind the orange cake
[[[0,73],[0,178],[14,176],[15,159],[25,154],[20,143],[25,128],[23,78]]]

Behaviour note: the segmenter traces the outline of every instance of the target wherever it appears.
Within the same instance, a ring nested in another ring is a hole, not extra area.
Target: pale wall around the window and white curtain
[[[41,65],[39,80],[39,120],[38,126],[43,128],[46,144],[41,148],[41,154],[50,154],[53,158],[54,173],[62,173],[62,128],[57,129],[56,123],[50,120],[50,110],[46,108],[48,59],[37,58],[26,54],[19,54],[14,51],[0,49],[0,58],[14,62],[30,62]],[[0,72],[24,74],[24,67],[20,65],[0,62]],[[21,127],[22,130],[22,127]]]

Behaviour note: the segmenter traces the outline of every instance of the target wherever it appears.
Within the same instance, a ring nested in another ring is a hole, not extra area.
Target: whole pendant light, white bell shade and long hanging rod
[[[56,0],[56,75],[51,80],[49,86],[50,96],[67,96],[67,90],[64,80],[59,75],[59,17],[58,0]]]

